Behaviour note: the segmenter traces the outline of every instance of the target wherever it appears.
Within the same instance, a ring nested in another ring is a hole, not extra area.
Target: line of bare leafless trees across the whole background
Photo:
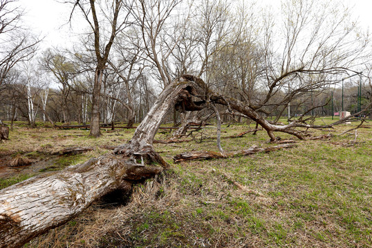
[[[342,79],[355,72],[362,82],[344,81],[344,110],[357,112],[360,84],[362,109],[371,103],[370,39],[339,1],[285,0],[273,14],[245,1],[69,0],[70,19],[82,16],[86,34],[69,50],[42,52],[15,2],[0,8],[8,44],[0,53],[0,120],[90,122],[91,136],[100,136],[100,123],[142,121],[185,73],[274,122],[332,115],[332,105],[339,112]],[[174,111],[167,121],[196,117]]]

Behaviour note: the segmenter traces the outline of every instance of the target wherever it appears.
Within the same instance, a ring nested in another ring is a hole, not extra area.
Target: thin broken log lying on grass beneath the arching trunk
[[[219,152],[211,152],[211,151],[184,152],[182,154],[177,154],[176,156],[174,156],[173,160],[174,160],[174,163],[180,163],[183,161],[192,161],[192,160],[205,160],[205,159],[212,159],[212,158],[229,158],[229,157],[241,156],[241,155],[251,155],[257,152],[272,152],[277,149],[290,148],[294,146],[295,146],[294,144],[286,144],[286,145],[276,145],[274,147],[266,147],[266,148],[250,147],[249,149],[244,149],[239,152],[227,152],[225,154],[221,154]]]

